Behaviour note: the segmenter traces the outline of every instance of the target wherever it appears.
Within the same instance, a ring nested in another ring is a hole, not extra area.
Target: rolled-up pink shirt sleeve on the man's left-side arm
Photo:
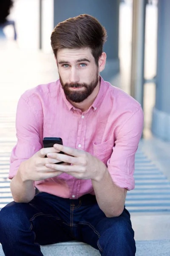
[[[23,161],[32,157],[42,148],[39,123],[39,119],[33,113],[28,99],[21,97],[16,114],[17,144],[11,152],[9,179],[17,174],[17,170]]]

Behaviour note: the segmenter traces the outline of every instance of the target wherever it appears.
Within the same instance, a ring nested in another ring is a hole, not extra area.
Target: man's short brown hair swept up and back
[[[106,38],[107,32],[99,21],[82,14],[58,23],[51,34],[51,47],[56,57],[58,49],[89,47],[98,66]]]

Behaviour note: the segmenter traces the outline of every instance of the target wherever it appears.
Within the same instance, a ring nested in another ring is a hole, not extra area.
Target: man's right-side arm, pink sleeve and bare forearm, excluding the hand
[[[107,217],[122,213],[127,189],[133,189],[135,153],[142,130],[143,111],[140,108],[120,129],[108,169],[100,165],[97,179],[92,180],[99,207]]]

